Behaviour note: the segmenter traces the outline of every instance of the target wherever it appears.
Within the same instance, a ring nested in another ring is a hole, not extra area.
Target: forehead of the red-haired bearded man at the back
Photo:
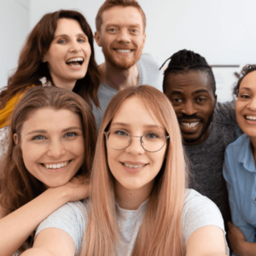
[[[142,26],[140,11],[132,6],[114,6],[102,13],[102,26]]]

